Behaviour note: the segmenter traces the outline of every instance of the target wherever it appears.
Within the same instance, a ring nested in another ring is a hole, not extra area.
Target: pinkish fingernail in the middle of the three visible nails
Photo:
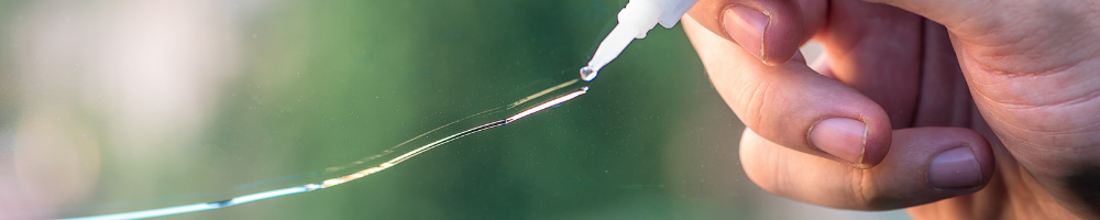
[[[853,119],[825,119],[810,129],[815,147],[857,165],[864,161],[866,139],[867,124]]]

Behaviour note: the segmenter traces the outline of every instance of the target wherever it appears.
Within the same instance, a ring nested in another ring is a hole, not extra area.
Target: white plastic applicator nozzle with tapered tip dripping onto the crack
[[[660,23],[672,29],[688,9],[698,0],[630,0],[618,13],[618,24],[612,33],[600,42],[588,65],[581,68],[581,78],[592,81],[600,69],[618,57],[635,38],[645,38],[646,33]]]

